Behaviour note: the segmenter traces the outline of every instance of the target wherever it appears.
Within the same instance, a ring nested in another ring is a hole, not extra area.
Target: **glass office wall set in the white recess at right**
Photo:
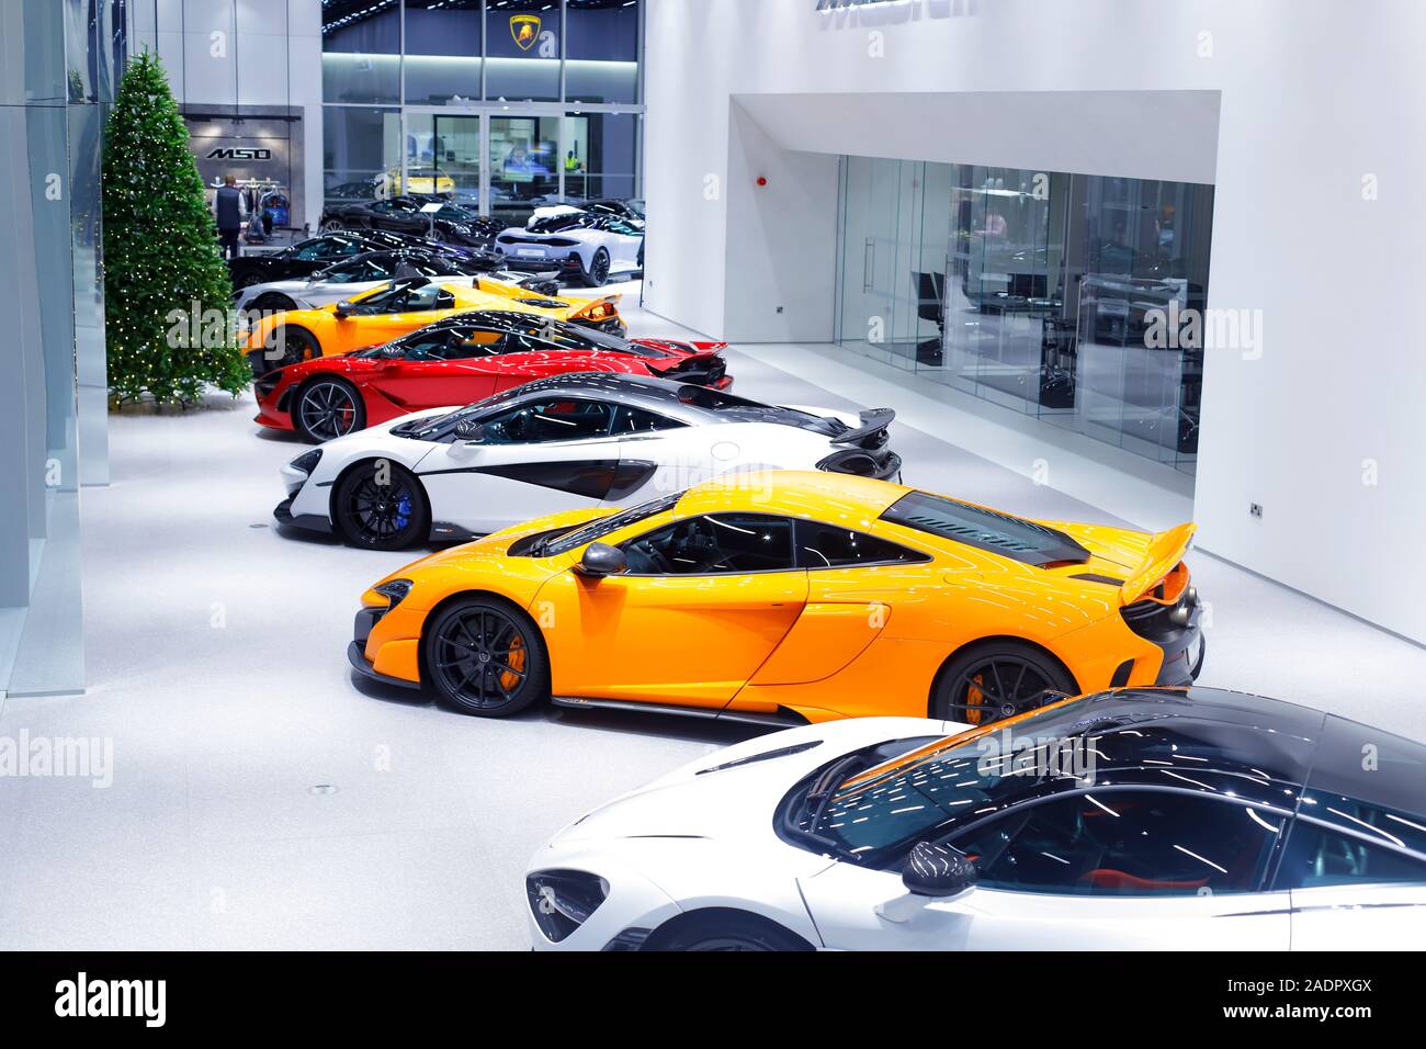
[[[1192,471],[1214,187],[847,157],[840,341]],[[1188,331],[1188,328],[1185,328]]]

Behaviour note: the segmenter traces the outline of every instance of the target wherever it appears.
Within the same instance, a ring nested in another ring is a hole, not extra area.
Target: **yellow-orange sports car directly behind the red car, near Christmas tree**
[[[287,364],[381,345],[434,321],[471,310],[533,314],[623,337],[619,295],[559,298],[493,277],[405,277],[312,310],[265,314],[248,330],[245,350],[262,375]]]

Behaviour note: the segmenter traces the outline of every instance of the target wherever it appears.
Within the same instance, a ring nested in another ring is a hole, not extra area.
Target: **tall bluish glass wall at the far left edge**
[[[111,16],[90,0],[0,0],[0,695],[84,688],[78,390],[104,370]],[[101,460],[87,471],[107,475]]]

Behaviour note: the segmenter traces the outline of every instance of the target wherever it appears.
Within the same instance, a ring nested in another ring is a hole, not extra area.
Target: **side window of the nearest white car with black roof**
[[[1092,896],[1256,892],[1283,818],[1228,799],[1088,791],[951,838],[978,885]]]

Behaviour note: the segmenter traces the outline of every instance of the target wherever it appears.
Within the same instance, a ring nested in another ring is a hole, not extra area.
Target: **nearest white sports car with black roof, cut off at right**
[[[1426,746],[1218,689],[1050,699],[809,725],[656,779],[533,856],[533,943],[1420,946]]]

